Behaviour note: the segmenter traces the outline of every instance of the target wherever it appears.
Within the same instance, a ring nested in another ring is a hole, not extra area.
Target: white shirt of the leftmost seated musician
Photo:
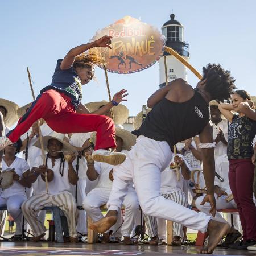
[[[16,156],[14,162],[11,163],[11,166],[9,167],[5,163],[5,160],[2,159],[2,170],[6,170],[7,168],[10,168],[10,169],[14,168],[16,174],[18,174],[20,177],[22,177],[24,172],[26,172],[27,170],[30,170],[30,167],[28,166],[28,163],[26,162],[26,160],[22,158],[18,158],[18,156]],[[18,194],[22,194],[26,196],[25,187],[19,184],[19,181],[15,181],[15,180],[13,185],[10,188],[7,188],[3,191],[0,188],[0,193],[1,193],[1,197],[3,198],[7,198],[7,197],[18,195]]]

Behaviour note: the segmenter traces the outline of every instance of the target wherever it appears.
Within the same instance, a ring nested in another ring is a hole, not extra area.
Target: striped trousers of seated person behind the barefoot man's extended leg
[[[165,193],[162,196],[168,200],[172,200],[184,207],[187,207],[188,201],[183,191],[176,190],[172,193]],[[144,215],[145,222],[148,229],[148,235],[155,237],[158,235],[159,238],[166,240],[166,220],[162,218],[155,218],[152,216]],[[174,222],[173,225],[173,236],[184,237],[183,226]]]

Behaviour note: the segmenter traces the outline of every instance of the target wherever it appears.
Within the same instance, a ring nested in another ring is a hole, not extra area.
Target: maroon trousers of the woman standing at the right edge
[[[229,185],[237,204],[243,240],[256,240],[256,206],[253,202],[254,165],[251,159],[229,160]]]

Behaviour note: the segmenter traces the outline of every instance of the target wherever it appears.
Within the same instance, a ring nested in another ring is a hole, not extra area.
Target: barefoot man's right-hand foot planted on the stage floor
[[[213,253],[213,250],[220,242],[221,238],[226,236],[230,231],[228,223],[210,220],[208,223],[207,233],[209,234],[208,246],[200,250],[200,253]]]

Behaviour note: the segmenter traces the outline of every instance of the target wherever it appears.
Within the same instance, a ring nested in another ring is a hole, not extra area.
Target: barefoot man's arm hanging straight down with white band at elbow
[[[214,174],[215,174],[215,161],[214,161],[214,147],[207,147],[208,143],[213,143],[213,128],[212,123],[208,123],[204,127],[204,130],[199,135],[200,147],[202,152],[203,160],[203,174],[204,180],[207,187],[207,195],[204,197],[204,200],[201,204],[209,202],[211,209],[209,213],[212,213],[213,217],[216,213],[216,201],[214,197]],[[205,148],[202,148],[205,147]]]

